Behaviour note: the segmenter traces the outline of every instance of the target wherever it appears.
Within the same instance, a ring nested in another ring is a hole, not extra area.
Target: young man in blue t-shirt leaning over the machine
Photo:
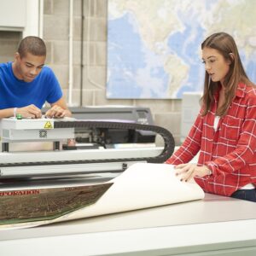
[[[0,64],[0,119],[16,116],[37,119],[44,102],[51,108],[47,117],[70,117],[55,74],[44,66],[46,47],[38,37],[23,38],[15,61]]]

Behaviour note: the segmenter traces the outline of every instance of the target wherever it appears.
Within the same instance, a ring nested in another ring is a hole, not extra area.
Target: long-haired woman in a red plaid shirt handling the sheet
[[[183,145],[166,161],[182,181],[208,193],[256,201],[256,89],[234,39],[218,32],[202,44],[202,108]],[[189,163],[200,151],[197,164]]]

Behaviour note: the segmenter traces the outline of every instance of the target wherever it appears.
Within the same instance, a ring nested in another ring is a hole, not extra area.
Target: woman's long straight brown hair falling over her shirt
[[[226,61],[230,61],[230,70],[224,78],[225,102],[218,108],[217,115],[224,116],[230,106],[231,101],[236,96],[236,89],[239,83],[244,83],[252,86],[253,83],[248,79],[247,74],[242,66],[241,59],[236,47],[236,42],[229,34],[225,32],[218,32],[208,37],[202,44],[201,49],[204,48],[217,49],[218,52],[224,56]],[[202,115],[206,115],[210,110],[213,95],[218,90],[219,82],[212,82],[209,74],[205,73],[204,93],[201,97],[201,103],[204,106]]]

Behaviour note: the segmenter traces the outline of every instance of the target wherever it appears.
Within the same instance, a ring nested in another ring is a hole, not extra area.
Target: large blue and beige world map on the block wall
[[[108,99],[181,98],[204,82],[201,42],[236,40],[256,82],[256,1],[108,0]]]

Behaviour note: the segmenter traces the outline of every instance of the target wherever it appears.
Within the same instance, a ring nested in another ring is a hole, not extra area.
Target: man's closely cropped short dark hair
[[[27,53],[37,56],[46,56],[46,46],[43,39],[29,36],[20,41],[18,53],[21,58],[25,57]]]

